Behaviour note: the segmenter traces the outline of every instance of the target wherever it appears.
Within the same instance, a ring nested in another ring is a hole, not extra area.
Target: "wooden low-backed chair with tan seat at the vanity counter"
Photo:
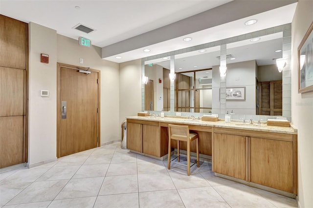
[[[171,140],[177,141],[177,155],[179,162],[179,142],[187,142],[187,175],[190,175],[190,143],[194,140],[196,140],[196,146],[197,146],[197,166],[199,167],[199,136],[197,133],[189,133],[189,127],[188,125],[168,125],[168,163],[167,168],[171,168],[171,163],[177,163],[173,160],[171,161],[171,152],[172,152],[172,146],[171,146]],[[176,159],[176,158],[175,158]],[[174,160],[175,160],[174,159]],[[184,165],[179,163],[180,165]],[[195,165],[194,163],[193,165]],[[184,165],[186,166],[186,165]]]

